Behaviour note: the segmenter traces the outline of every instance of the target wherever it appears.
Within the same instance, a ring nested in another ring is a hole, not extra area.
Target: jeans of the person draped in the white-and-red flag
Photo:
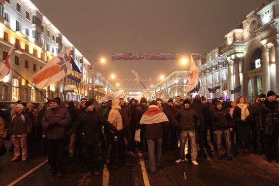
[[[155,172],[156,166],[160,165],[162,138],[147,139],[148,161],[150,171]]]

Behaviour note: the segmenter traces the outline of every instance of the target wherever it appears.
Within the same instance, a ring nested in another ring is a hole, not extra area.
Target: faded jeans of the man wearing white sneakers
[[[191,160],[197,159],[197,147],[196,147],[196,133],[195,130],[182,130],[180,132],[180,159],[185,160],[185,144],[189,136],[188,143],[190,141],[191,146]]]

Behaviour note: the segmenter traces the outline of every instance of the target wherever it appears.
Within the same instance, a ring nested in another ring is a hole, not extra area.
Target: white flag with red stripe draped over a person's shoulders
[[[140,124],[154,124],[168,122],[166,115],[156,105],[150,105],[144,113]]]

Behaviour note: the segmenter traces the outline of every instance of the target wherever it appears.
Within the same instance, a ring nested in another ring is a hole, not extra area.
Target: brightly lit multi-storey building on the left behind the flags
[[[88,97],[90,63],[55,25],[29,0],[0,0],[0,58],[5,61],[11,47],[12,70],[0,82],[1,101],[41,102],[56,96],[80,100]],[[77,84],[65,78],[41,90],[34,89],[32,76],[52,57],[71,47],[71,56],[83,73],[83,80]],[[1,64],[3,65],[3,63]],[[23,78],[22,78],[23,77]],[[25,81],[27,80],[27,81]]]

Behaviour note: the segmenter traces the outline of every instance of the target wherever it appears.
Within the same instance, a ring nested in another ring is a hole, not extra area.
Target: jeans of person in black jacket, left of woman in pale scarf
[[[231,139],[230,139],[230,131],[229,130],[216,130],[214,132],[216,134],[216,143],[218,154],[222,154],[222,139],[224,137],[226,146],[227,146],[227,155],[231,156]]]

